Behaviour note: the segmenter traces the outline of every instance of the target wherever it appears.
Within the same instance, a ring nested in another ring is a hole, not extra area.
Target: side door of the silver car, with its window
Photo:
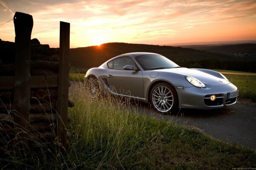
[[[118,94],[143,98],[143,74],[138,70],[124,70],[125,65],[136,67],[130,57],[120,57],[110,62],[111,70],[107,73],[111,91]]]

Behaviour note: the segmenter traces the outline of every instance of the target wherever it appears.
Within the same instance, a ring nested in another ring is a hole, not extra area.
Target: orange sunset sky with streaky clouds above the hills
[[[15,41],[15,11],[33,16],[32,38],[50,47],[59,21],[70,23],[71,48],[256,40],[256,0],[0,0],[4,41]]]

